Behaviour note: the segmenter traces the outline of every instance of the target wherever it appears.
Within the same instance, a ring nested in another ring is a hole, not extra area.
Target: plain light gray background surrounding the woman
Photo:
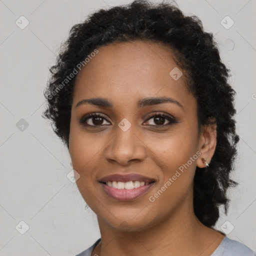
[[[75,255],[100,237],[95,214],[66,177],[68,150],[41,117],[42,92],[71,26],[98,8],[128,2],[0,0],[0,255]],[[229,190],[228,214],[216,228],[233,228],[229,238],[256,250],[255,0],[176,2],[215,35],[232,70],[240,135],[232,177],[240,185]],[[15,23],[21,15],[29,21],[24,29]],[[226,15],[234,21],[228,29],[221,24]],[[20,221],[29,227],[24,234]]]

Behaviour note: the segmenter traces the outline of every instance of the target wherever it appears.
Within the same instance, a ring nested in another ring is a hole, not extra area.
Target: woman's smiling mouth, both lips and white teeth
[[[133,200],[150,190],[156,180],[146,176],[113,174],[99,180],[103,191],[116,200]]]

